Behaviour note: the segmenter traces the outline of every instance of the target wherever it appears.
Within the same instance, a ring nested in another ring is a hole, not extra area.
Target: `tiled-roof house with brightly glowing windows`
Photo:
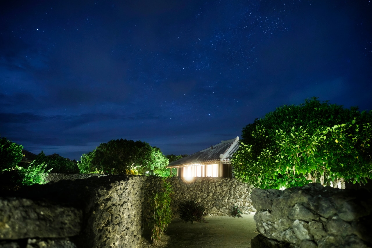
[[[169,163],[167,168],[177,168],[178,177],[232,177],[232,155],[240,146],[239,137]]]

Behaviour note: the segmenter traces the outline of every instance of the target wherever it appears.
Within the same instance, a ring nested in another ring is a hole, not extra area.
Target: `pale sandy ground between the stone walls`
[[[250,248],[251,239],[258,234],[253,215],[242,214],[243,218],[211,216],[206,218],[206,223],[192,224],[176,218],[158,244],[151,244],[149,234],[145,233],[137,248]]]

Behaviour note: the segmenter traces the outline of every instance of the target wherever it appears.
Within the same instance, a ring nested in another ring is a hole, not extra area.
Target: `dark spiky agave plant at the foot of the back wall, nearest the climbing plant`
[[[194,221],[205,222],[205,216],[208,214],[202,203],[195,200],[187,200],[179,204],[180,218],[185,222]]]

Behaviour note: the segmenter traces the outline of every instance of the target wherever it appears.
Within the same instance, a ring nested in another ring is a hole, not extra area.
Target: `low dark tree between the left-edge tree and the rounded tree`
[[[46,156],[45,153],[41,151],[41,153],[36,156],[33,166],[37,167],[42,164],[45,164],[46,171],[50,171],[52,173],[79,173],[79,168],[76,162],[63,158],[57,154]]]

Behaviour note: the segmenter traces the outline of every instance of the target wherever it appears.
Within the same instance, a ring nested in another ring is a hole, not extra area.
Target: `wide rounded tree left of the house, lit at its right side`
[[[158,147],[141,141],[126,139],[110,140],[95,150],[83,154],[79,169],[82,173],[103,172],[108,174],[161,174],[168,159]]]

